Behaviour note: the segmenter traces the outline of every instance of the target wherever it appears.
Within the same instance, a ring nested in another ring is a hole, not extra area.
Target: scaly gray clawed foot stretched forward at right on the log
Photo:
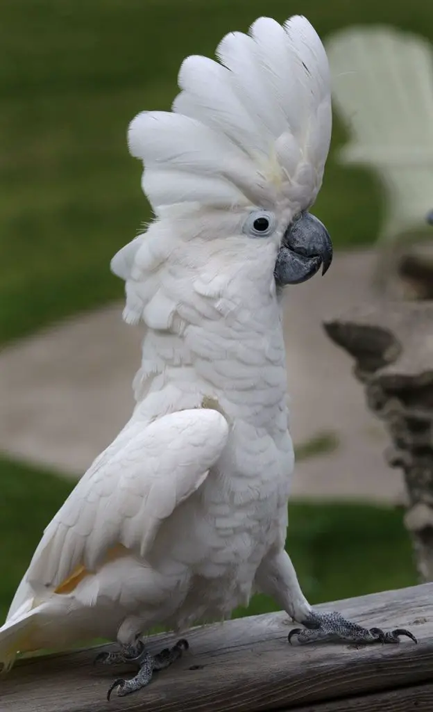
[[[305,627],[295,628],[289,632],[287,639],[292,643],[296,636],[299,644],[314,643],[316,641],[346,641],[358,644],[370,643],[400,643],[400,636],[407,636],[414,643],[415,635],[404,628],[383,631],[381,628],[363,628],[358,623],[346,620],[338,612],[317,613],[311,611],[309,616],[301,621]]]

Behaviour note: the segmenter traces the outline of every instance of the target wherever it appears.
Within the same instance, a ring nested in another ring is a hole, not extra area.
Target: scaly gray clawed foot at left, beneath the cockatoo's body
[[[102,665],[132,663],[139,668],[137,675],[130,680],[123,678],[114,680],[107,693],[107,699],[109,700],[114,689],[116,689],[117,694],[122,697],[146,687],[146,685],[149,685],[155,670],[163,670],[169,667],[175,660],[182,656],[184,650],[188,650],[188,647],[188,642],[182,639],[178,640],[176,645],[173,645],[172,648],[164,648],[160,653],[151,655],[146,651],[144,644],[139,640],[134,645],[122,646],[119,652],[100,653],[97,655],[95,663]]]

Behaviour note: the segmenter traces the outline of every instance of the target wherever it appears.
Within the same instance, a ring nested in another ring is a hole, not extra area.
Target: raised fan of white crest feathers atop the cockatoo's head
[[[294,204],[321,186],[331,138],[328,61],[304,17],[269,18],[233,32],[220,63],[191,56],[178,75],[173,112],[144,112],[129,149],[144,162],[142,187],[159,215],[178,203]]]

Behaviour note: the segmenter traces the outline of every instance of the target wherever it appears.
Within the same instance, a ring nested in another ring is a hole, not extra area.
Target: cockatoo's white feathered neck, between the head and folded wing
[[[267,428],[286,409],[282,306],[272,288],[207,298],[206,314],[184,303],[171,328],[148,328],[134,379],[137,409],[149,417],[218,407]]]

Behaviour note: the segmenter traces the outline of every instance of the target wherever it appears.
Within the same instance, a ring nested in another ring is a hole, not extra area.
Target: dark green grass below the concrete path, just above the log
[[[43,528],[72,483],[38,468],[0,459],[0,620]],[[402,515],[361,504],[292,503],[287,550],[311,603],[400,588],[417,582]],[[276,609],[255,596],[247,611]]]

